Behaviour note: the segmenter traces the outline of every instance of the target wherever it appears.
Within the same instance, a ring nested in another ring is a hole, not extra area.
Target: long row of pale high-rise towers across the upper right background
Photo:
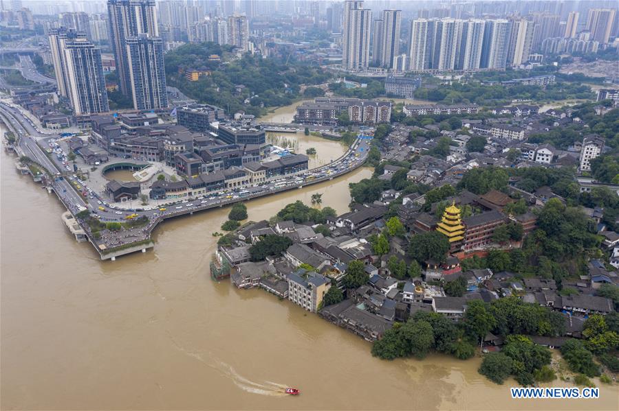
[[[406,50],[400,42],[402,11],[383,10],[373,19],[362,0],[327,8],[327,30],[338,29],[336,19],[341,14],[343,69],[439,72],[518,67],[528,62],[534,51],[597,51],[609,43],[616,25],[616,10],[611,8],[589,9],[585,30],[580,32],[580,13],[576,11],[561,21],[561,14],[550,11],[466,19],[450,16],[450,10],[445,10],[417,13],[407,41],[402,41],[408,45]],[[464,12],[455,14],[466,16]]]

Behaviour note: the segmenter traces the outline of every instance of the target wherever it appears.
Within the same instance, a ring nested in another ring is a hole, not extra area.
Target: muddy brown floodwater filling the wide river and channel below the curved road
[[[228,209],[164,222],[154,250],[102,262],[69,235],[56,197],[0,159],[3,410],[617,409],[607,386],[599,400],[512,400],[513,381],[488,382],[479,360],[377,360],[288,301],[215,283],[211,233]],[[370,174],[252,200],[249,217],[312,193],[343,213],[348,183]]]

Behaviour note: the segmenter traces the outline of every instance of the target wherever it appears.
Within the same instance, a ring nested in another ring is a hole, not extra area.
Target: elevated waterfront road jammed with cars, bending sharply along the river
[[[116,248],[149,239],[152,229],[166,218],[224,207],[235,202],[331,180],[360,167],[367,158],[371,143],[371,137],[360,135],[349,150],[335,161],[298,174],[280,176],[263,185],[232,190],[221,189],[197,198],[170,200],[169,203],[154,208],[124,209],[111,204],[103,193],[89,187],[87,181],[78,178],[77,174],[71,174],[72,168],[67,160],[67,153],[58,144],[60,137],[38,130],[22,110],[14,104],[0,102],[1,117],[6,119],[7,126],[20,137],[19,148],[49,171],[48,185],[54,189],[69,211],[75,215],[88,209],[91,215],[102,222],[126,222],[127,218],[142,216],[148,218],[149,222],[145,226],[117,232],[105,231],[100,237],[94,236],[88,224],[82,222],[81,225],[88,233],[90,241],[98,250],[102,249],[100,247],[102,245],[104,248]]]

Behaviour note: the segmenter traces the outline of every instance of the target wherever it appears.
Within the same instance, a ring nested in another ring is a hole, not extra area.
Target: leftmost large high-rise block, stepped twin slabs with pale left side
[[[64,27],[52,30],[49,40],[58,93],[69,99],[74,113],[109,111],[100,49],[85,34]]]

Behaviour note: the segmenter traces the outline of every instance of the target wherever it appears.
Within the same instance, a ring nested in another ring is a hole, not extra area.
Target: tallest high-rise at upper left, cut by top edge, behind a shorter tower
[[[131,79],[127,63],[127,39],[140,34],[159,36],[157,11],[154,0],[108,0],[110,34],[116,71],[120,78],[120,91],[131,93]]]

